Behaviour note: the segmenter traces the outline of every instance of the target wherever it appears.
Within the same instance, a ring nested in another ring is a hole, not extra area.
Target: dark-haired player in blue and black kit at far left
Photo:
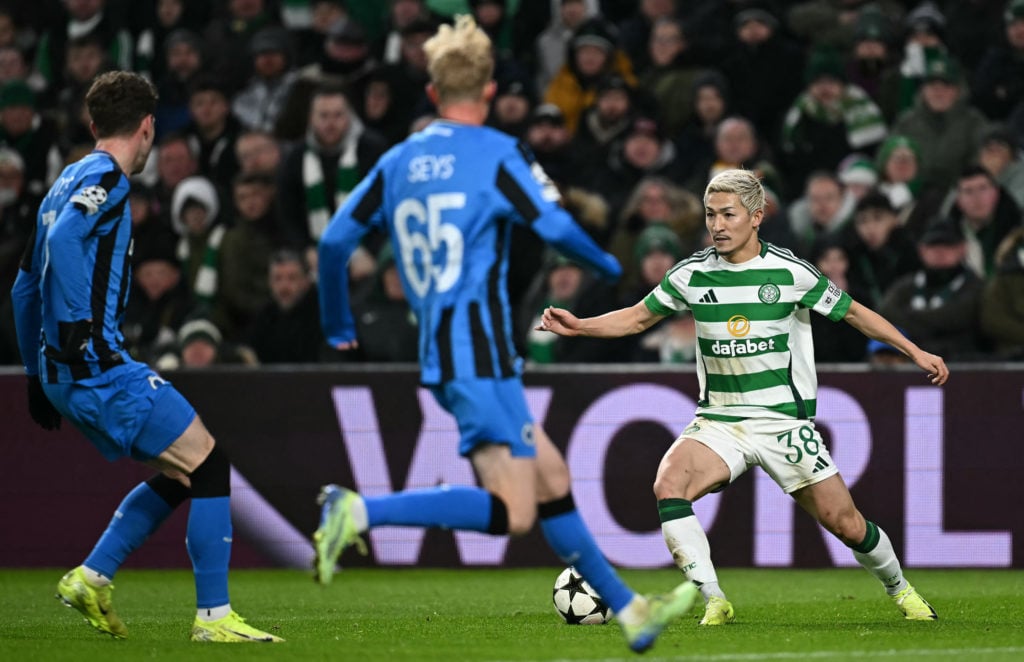
[[[191,405],[124,349],[131,280],[128,175],[153,147],[157,93],[137,74],[111,72],[86,95],[95,150],[65,168],[39,208],[11,292],[29,383],[29,412],[45,429],[67,418],[108,460],[131,457],[160,472],[118,506],[57,597],[97,630],[128,634],[111,604],[125,558],[185,499],[196,578],[191,639],[280,642],[236,614],[227,594],[230,465]]]

